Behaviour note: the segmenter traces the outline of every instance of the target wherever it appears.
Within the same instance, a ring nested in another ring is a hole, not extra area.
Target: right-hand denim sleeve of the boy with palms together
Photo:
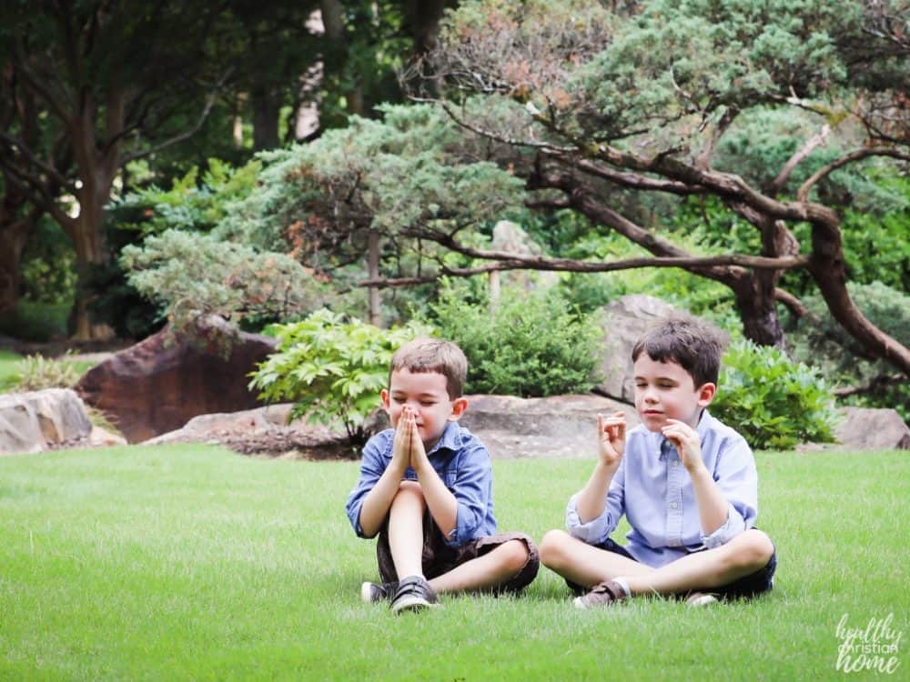
[[[493,472],[490,454],[479,443],[460,454],[457,475],[450,486],[458,503],[455,528],[446,544],[458,547],[470,540],[487,535],[488,508],[492,498]],[[443,534],[444,535],[444,534]]]

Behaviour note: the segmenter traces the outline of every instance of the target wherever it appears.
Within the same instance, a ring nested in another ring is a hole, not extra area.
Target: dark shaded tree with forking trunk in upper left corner
[[[40,6],[36,6],[40,5]],[[0,167],[35,210],[53,216],[72,239],[80,282],[106,261],[102,226],[123,165],[192,135],[214,103],[226,73],[207,71],[207,36],[217,2],[7,4],[0,15],[6,86],[16,125],[0,130]],[[187,106],[194,122],[180,130]],[[40,118],[31,118],[42,113]],[[40,125],[37,133],[30,128]],[[53,142],[51,142],[53,141]],[[71,165],[57,162],[61,150]],[[66,210],[66,196],[77,210]],[[83,288],[75,338],[105,334],[93,325]]]

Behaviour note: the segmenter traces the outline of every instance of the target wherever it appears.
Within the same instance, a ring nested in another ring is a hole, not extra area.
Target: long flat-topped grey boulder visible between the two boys
[[[626,413],[630,428],[639,423],[635,410],[602,396],[467,396],[468,411],[460,423],[483,441],[494,459],[514,457],[580,457],[597,455],[597,415]],[[389,427],[384,411],[373,413],[369,430]]]

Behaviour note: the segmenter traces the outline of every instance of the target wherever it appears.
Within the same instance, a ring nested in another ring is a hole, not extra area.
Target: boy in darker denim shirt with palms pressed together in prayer
[[[382,405],[393,428],[369,439],[347,512],[359,537],[379,534],[381,584],[367,602],[393,613],[437,605],[437,593],[518,592],[537,575],[537,547],[496,534],[490,455],[458,424],[468,360],[449,341],[419,338],[392,357]]]

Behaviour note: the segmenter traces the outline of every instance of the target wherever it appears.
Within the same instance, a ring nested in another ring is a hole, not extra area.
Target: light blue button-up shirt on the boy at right
[[[661,567],[700,549],[720,547],[751,528],[758,516],[758,474],[752,450],[729,426],[702,413],[696,433],[704,465],[727,500],[727,520],[703,535],[692,478],[661,433],[636,426],[626,437],[625,451],[607,493],[600,517],[582,524],[578,496],[569,500],[566,527],[572,537],[600,545],[623,514],[632,530],[626,549],[642,564]]]

